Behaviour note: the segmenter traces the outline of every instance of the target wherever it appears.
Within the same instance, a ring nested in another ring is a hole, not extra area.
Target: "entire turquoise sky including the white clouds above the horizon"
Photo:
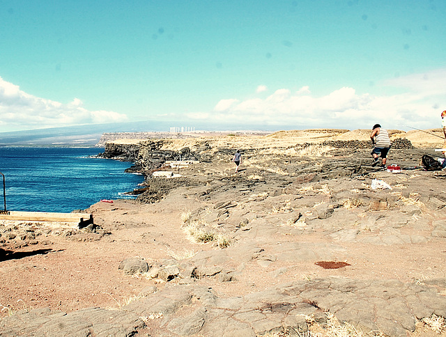
[[[0,0],[0,132],[440,127],[446,1]],[[181,123],[180,123],[181,122]]]

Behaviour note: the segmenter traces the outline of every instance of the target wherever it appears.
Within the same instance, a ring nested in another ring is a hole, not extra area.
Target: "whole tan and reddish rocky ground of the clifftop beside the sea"
[[[92,205],[94,226],[3,224],[0,336],[436,336],[446,173],[419,166],[438,152],[402,141],[388,173],[325,138],[164,143],[200,162]]]

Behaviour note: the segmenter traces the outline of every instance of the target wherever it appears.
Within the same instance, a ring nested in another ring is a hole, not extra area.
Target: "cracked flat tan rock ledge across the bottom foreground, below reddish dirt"
[[[328,313],[370,336],[407,336],[418,320],[446,316],[445,287],[446,279],[329,278],[224,298],[203,286],[169,285],[114,310],[17,312],[0,320],[0,336],[303,336],[309,318],[324,323]]]

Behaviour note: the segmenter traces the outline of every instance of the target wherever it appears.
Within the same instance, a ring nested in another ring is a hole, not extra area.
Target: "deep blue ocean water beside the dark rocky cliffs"
[[[132,198],[144,180],[125,173],[132,165],[94,158],[103,148],[0,147],[0,172],[6,177],[6,207],[13,211],[71,212],[101,199]],[[0,175],[0,210],[3,181]]]

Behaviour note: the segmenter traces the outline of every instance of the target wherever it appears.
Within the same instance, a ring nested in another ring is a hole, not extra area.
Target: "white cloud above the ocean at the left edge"
[[[89,111],[75,98],[68,104],[29,95],[0,77],[0,131],[31,130],[82,124],[124,122],[114,111]],[[8,127],[6,129],[6,127]]]

